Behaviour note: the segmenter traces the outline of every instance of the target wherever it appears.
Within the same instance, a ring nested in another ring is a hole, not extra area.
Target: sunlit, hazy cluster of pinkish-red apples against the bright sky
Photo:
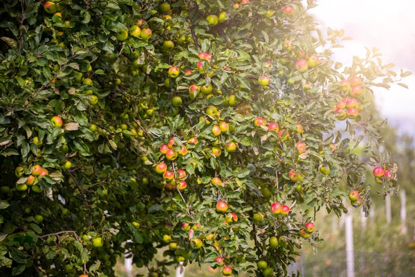
[[[339,82],[340,91],[350,93],[351,97],[343,98],[333,107],[335,117],[338,120],[355,119],[358,117],[359,111],[363,110],[360,102],[356,100],[362,94],[363,89],[360,84],[362,84],[362,78],[360,77],[352,77],[348,81],[342,80]]]

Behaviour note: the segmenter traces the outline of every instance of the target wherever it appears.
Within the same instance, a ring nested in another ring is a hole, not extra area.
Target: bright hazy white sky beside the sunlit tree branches
[[[365,57],[365,46],[376,47],[384,64],[393,62],[395,71],[415,73],[414,0],[318,0],[317,5],[310,12],[321,28],[344,29],[353,38],[336,50],[336,61],[351,64],[353,55]],[[389,124],[415,136],[415,75],[404,82],[409,89],[375,88],[375,100]]]

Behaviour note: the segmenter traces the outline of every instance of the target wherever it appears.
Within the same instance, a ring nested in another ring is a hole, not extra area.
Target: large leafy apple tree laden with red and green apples
[[[410,73],[333,61],[315,2],[3,1],[1,276],[283,276],[321,208],[396,190],[365,95]]]

